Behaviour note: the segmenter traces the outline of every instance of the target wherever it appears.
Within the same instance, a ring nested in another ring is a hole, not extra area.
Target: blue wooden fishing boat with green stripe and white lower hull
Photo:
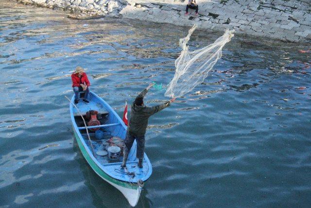
[[[152,173],[151,163],[145,153],[143,168],[138,167],[135,141],[129,152],[126,168],[121,168],[123,158],[120,155],[122,154],[116,156],[116,153],[107,151],[107,144],[112,137],[121,138],[123,141],[127,127],[120,116],[101,97],[90,92],[88,100],[89,103],[85,103],[80,98],[79,103],[74,106],[73,95],[70,102],[73,132],[79,148],[89,166],[106,182],[120,190],[129,204],[135,207],[144,182]],[[99,122],[97,124],[95,122],[95,126],[85,125],[89,117],[88,112],[91,110],[97,113],[96,119]],[[97,131],[100,132],[100,139]]]

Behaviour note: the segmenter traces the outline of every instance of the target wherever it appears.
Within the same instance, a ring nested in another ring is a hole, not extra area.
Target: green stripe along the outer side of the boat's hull
[[[84,158],[86,159],[86,161],[88,162],[88,164],[92,167],[92,169],[102,178],[110,181],[111,183],[114,183],[116,185],[119,185],[121,187],[124,188],[128,188],[128,189],[138,189],[138,185],[137,184],[133,184],[133,183],[127,183],[124,181],[119,181],[116,180],[112,177],[110,177],[109,175],[107,175],[100,167],[97,166],[97,164],[92,160],[92,158],[90,157],[90,155],[87,153],[85,147],[83,146],[78,134],[75,132],[75,130],[73,129],[74,135],[76,137],[76,140],[78,142],[79,148],[84,156]]]

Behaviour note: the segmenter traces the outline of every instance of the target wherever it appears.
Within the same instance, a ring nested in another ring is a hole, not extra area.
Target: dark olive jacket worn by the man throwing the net
[[[137,97],[144,97],[147,94],[148,90],[144,89]],[[168,101],[164,104],[157,105],[154,107],[147,107],[145,105],[138,106],[135,105],[135,101],[132,104],[131,109],[131,118],[127,127],[127,132],[133,136],[143,136],[146,133],[148,118],[170,106],[171,102]]]

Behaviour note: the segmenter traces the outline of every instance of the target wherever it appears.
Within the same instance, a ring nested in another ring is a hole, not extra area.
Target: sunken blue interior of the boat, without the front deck
[[[103,103],[97,99],[94,95],[89,95],[89,102],[86,104],[85,102],[80,99],[79,103],[76,105],[79,108],[79,112],[77,109],[73,108],[73,116],[74,120],[77,124],[77,127],[79,129],[79,132],[81,133],[88,149],[92,151],[90,141],[87,136],[86,127],[83,122],[83,119],[81,117],[81,114],[83,118],[86,121],[86,126],[88,129],[88,134],[93,146],[93,151],[95,158],[99,163],[102,165],[108,164],[108,163],[120,163],[123,160],[122,157],[122,150],[119,158],[117,159],[111,159],[109,155],[107,154],[108,147],[111,145],[109,142],[109,139],[112,137],[119,137],[122,140],[122,145],[119,143],[119,147],[122,148],[123,146],[123,140],[125,139],[126,135],[126,129],[121,125],[120,120],[118,117],[114,114],[114,112],[109,111],[107,109],[108,107],[105,107]],[[90,120],[89,116],[87,116],[87,112],[90,110],[97,111],[96,118],[100,122],[100,124],[96,126],[88,126],[88,122]],[[91,128],[93,127],[93,128]],[[99,131],[100,133],[98,133]],[[117,145],[118,146],[118,145]],[[128,162],[133,162],[137,160],[136,159],[136,143],[133,144],[133,147],[129,153]]]

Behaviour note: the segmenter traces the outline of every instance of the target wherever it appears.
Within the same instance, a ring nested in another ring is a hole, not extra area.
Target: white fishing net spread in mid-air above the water
[[[188,43],[192,32],[197,25],[189,30],[186,38],[179,40],[182,47],[180,56],[175,60],[175,75],[168,85],[165,96],[180,97],[189,93],[195,86],[202,83],[208,72],[213,68],[217,60],[222,56],[222,49],[234,36],[234,30],[226,30],[225,34],[214,43],[195,51],[190,52]]]

